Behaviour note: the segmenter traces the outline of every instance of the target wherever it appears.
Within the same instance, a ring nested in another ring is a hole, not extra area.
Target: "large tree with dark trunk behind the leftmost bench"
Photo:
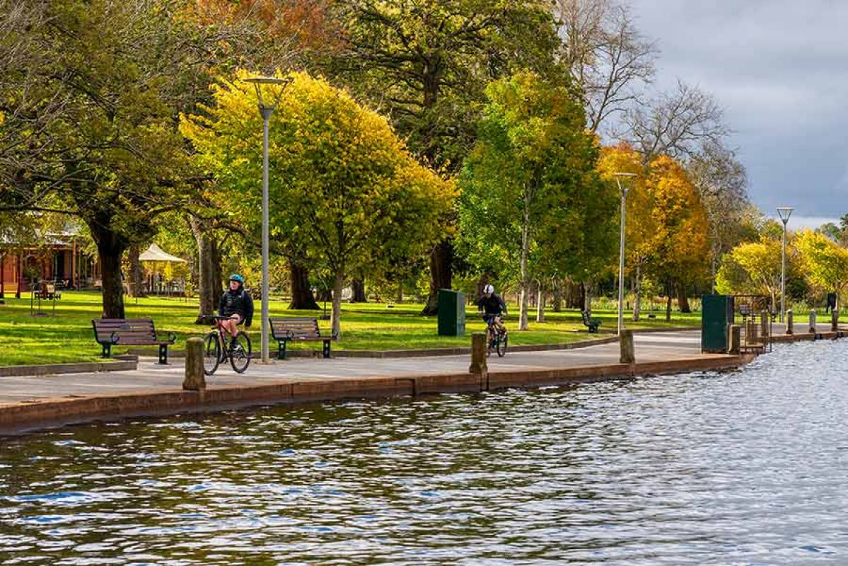
[[[20,72],[40,87],[11,99],[15,112],[3,129],[20,140],[20,153],[41,159],[7,169],[9,187],[37,199],[31,208],[49,202],[86,222],[103,271],[103,314],[123,317],[124,250],[148,239],[156,216],[181,202],[174,190],[184,173],[174,120],[181,91],[172,80],[192,53],[172,5],[37,5],[43,19],[25,37],[46,56]],[[37,128],[21,111],[56,100],[59,112]]]

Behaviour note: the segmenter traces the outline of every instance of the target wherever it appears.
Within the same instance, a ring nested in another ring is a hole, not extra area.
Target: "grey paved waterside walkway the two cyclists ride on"
[[[657,362],[700,357],[700,332],[674,331],[636,334],[636,361]],[[507,352],[503,358],[488,359],[490,373],[531,371],[569,367],[605,366],[618,363],[618,343],[594,345],[575,350]],[[248,373],[238,375],[222,365],[207,378],[209,387],[324,381],[335,378],[403,378],[412,375],[466,373],[470,356],[414,358],[294,358],[263,365],[254,362]],[[155,359],[142,359],[136,371],[103,373],[67,373],[43,377],[0,378],[0,405],[47,398],[74,398],[92,395],[120,395],[137,392],[165,392],[180,389],[183,378],[181,360],[159,366]]]

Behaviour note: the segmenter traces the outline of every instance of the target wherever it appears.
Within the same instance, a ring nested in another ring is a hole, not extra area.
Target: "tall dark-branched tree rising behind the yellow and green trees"
[[[474,138],[474,104],[488,81],[512,70],[555,69],[559,45],[543,0],[347,0],[336,3],[348,48],[331,73],[391,116],[410,151],[444,175],[458,171]],[[450,288],[453,245],[431,253],[426,314]]]

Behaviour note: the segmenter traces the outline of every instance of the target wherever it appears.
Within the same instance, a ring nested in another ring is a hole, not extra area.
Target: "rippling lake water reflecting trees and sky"
[[[848,563],[848,342],[0,442],[3,564]]]

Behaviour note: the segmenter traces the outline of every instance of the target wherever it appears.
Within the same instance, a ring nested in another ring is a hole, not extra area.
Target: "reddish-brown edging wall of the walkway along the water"
[[[342,399],[477,393],[513,387],[567,385],[739,367],[754,356],[710,356],[675,361],[606,366],[570,367],[407,376],[403,378],[343,378],[323,381],[282,379],[273,384],[210,386],[200,391],[138,391],[126,395],[74,396],[0,405],[0,434],[15,434],[70,423],[159,417],[182,412],[215,412],[250,406],[300,404]]]

